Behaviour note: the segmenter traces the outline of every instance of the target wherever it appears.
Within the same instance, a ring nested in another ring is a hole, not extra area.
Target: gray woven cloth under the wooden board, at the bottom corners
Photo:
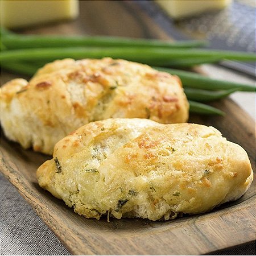
[[[0,195],[0,255],[70,255],[1,173]],[[255,243],[211,255],[255,255]]]

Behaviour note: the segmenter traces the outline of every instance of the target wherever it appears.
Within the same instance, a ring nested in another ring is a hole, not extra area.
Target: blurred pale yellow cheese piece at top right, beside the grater
[[[223,9],[232,0],[155,0],[174,19]]]

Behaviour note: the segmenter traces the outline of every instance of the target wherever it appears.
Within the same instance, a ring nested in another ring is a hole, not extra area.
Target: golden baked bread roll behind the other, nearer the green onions
[[[91,121],[138,117],[179,123],[187,121],[189,108],[176,76],[110,58],[49,63],[29,82],[7,82],[0,104],[7,138],[46,154]]]

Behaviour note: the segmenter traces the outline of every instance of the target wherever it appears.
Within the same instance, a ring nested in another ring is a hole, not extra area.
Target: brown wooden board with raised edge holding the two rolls
[[[99,23],[101,20],[101,23]],[[23,33],[98,34],[168,38],[134,3],[81,1],[80,18]],[[1,84],[17,77],[2,72]],[[232,100],[213,102],[225,117],[191,115],[189,122],[214,126],[249,154],[255,172],[255,122]],[[39,187],[35,172],[49,156],[23,150],[1,134],[1,171],[72,254],[209,254],[255,240],[255,179],[239,200],[210,213],[171,221],[90,220]]]

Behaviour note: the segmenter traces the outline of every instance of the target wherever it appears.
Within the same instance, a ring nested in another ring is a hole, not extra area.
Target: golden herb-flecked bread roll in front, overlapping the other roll
[[[253,171],[245,150],[213,127],[134,118],[80,127],[56,144],[37,177],[87,218],[168,220],[238,199]]]

